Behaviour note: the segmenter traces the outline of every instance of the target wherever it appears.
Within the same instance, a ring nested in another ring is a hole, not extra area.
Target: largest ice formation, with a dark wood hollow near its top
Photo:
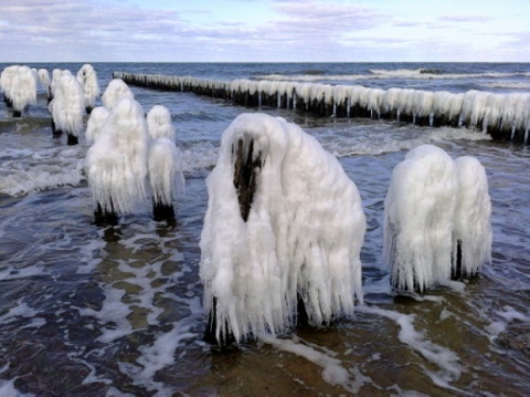
[[[361,198],[340,163],[280,117],[240,115],[206,180],[204,307],[218,342],[319,326],[362,303]]]

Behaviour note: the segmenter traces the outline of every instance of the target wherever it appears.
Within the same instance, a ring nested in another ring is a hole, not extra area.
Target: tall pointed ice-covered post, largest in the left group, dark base
[[[147,123],[141,105],[121,98],[106,118],[86,154],[85,171],[96,224],[113,224],[120,213],[145,200]]]

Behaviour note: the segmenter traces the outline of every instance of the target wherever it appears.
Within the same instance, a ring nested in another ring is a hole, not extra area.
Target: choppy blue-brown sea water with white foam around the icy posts
[[[82,64],[30,66],[76,72]],[[93,66],[102,91],[112,73],[121,71],[384,90],[530,92],[529,64]],[[83,175],[84,136],[77,146],[52,136],[42,88],[22,118],[0,104],[0,395],[528,395],[527,146],[496,143],[466,128],[315,117],[233,106],[192,93],[131,90],[146,112],[161,104],[172,114],[187,188],[174,202],[171,224],[153,221],[146,202],[120,217],[117,227],[95,226]],[[318,330],[299,327],[280,341],[248,341],[219,352],[202,341],[204,181],[222,133],[245,112],[298,124],[339,158],[356,182],[368,221],[361,252],[365,304],[352,317]],[[426,143],[454,158],[475,156],[485,166],[492,263],[467,283],[412,299],[390,289],[382,261],[383,201],[392,169],[407,150]]]

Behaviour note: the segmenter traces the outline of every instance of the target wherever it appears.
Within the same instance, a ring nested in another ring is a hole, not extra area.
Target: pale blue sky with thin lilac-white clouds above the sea
[[[0,62],[530,62],[529,0],[0,0]]]

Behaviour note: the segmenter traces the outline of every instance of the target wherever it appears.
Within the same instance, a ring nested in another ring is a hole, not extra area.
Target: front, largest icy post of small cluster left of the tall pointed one
[[[66,132],[68,145],[77,145],[83,130],[85,102],[83,87],[68,71],[61,73],[59,81],[55,81],[50,107],[55,128]]]

